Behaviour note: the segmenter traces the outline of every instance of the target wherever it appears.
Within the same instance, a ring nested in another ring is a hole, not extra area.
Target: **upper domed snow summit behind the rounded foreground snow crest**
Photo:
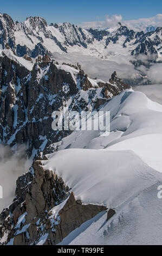
[[[162,172],[159,161],[162,153],[162,106],[148,99],[143,93],[127,89],[113,97],[100,110],[110,111],[109,136],[100,136],[99,131],[75,131],[59,143],[59,150],[133,150],[152,168]]]

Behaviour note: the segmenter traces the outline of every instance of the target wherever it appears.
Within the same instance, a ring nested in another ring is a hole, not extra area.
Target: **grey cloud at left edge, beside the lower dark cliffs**
[[[27,172],[30,166],[31,162],[25,157],[23,145],[13,152],[8,146],[0,144],[0,186],[3,188],[0,212],[14,199],[16,180],[18,176]]]

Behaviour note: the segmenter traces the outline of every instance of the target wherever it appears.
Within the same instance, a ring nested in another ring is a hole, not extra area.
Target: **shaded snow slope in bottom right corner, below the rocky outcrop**
[[[106,222],[100,213],[59,245],[161,245],[162,203],[155,183],[137,194]]]

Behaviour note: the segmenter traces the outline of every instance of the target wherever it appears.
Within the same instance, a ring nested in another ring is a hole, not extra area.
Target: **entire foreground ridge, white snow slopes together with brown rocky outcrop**
[[[162,106],[127,89],[100,110],[111,112],[109,136],[74,131],[18,178],[1,243],[161,245]]]

